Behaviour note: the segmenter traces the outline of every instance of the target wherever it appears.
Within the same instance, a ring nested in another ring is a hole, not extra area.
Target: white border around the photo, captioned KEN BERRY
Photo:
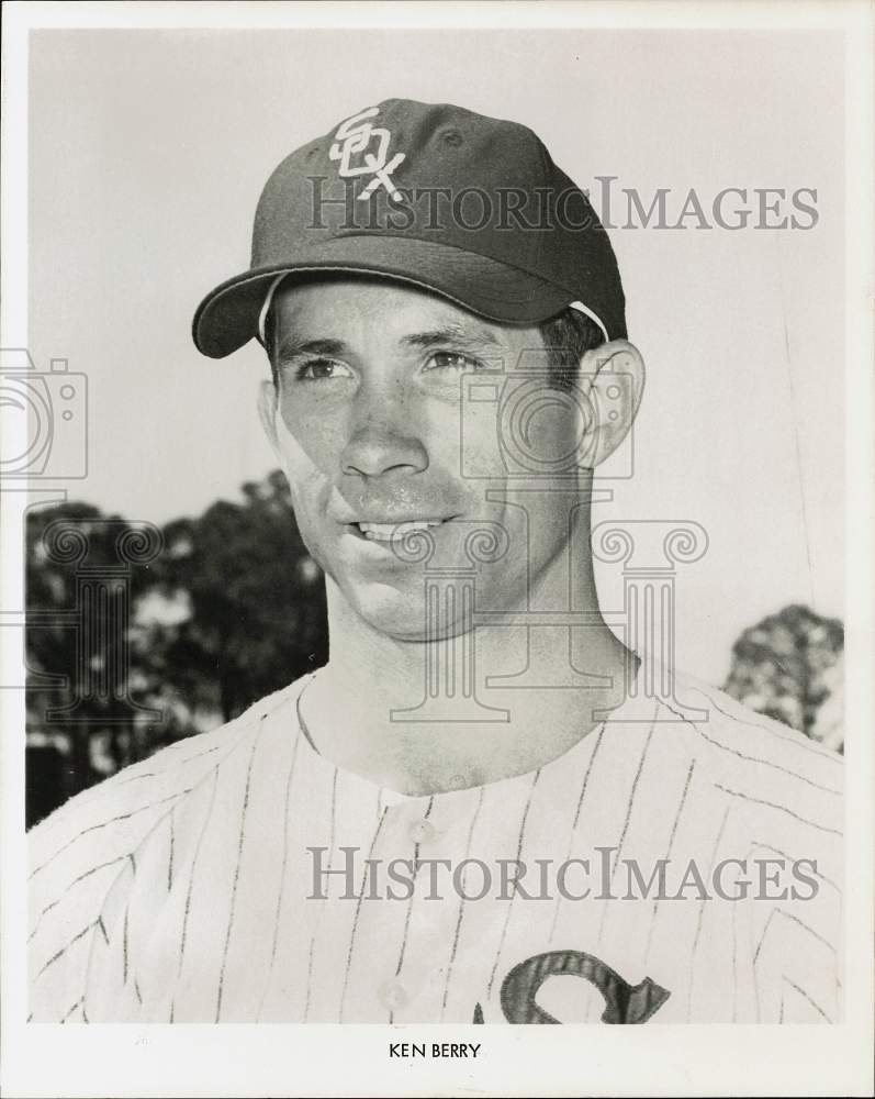
[[[10,1096],[864,1095],[873,1044],[873,8],[748,3],[7,3],[2,346],[27,345],[27,34],[36,27],[840,27],[846,42],[846,1007],[799,1026],[26,1025],[24,700],[0,691],[2,1089]],[[837,364],[824,364],[824,370]],[[3,493],[7,495],[5,492]],[[4,518],[9,514],[3,500]],[[23,607],[22,544],[4,523],[2,610]],[[20,533],[20,532],[19,532]],[[2,621],[2,620],[0,620]],[[3,621],[3,624],[5,622]],[[23,668],[0,630],[2,682]],[[392,1040],[475,1041],[476,1062],[390,1062]]]

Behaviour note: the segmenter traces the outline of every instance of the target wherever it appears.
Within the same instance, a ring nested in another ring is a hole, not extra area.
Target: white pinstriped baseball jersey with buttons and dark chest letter
[[[431,797],[321,756],[309,679],[126,768],[31,833],[30,1018],[837,1021],[841,759],[676,681],[707,721]]]

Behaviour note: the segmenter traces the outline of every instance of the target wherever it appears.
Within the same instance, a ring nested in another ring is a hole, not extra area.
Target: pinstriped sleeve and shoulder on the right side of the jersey
[[[843,757],[691,677],[675,696],[699,710],[683,726],[720,822],[715,858],[747,875],[758,1020],[840,1019]]]

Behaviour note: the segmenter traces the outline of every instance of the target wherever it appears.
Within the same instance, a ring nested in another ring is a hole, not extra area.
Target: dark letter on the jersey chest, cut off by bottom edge
[[[593,954],[550,951],[515,965],[502,981],[501,1004],[505,1019],[508,1023],[561,1022],[539,1007],[535,998],[548,977],[569,975],[583,977],[602,993],[605,999],[603,1023],[646,1023],[671,996],[650,977],[630,985]],[[479,1003],[473,1021],[483,1022],[483,1009]]]

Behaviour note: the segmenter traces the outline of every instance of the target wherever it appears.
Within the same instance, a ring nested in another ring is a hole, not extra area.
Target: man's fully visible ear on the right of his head
[[[644,391],[644,360],[627,340],[612,340],[583,356],[580,387],[588,403],[580,464],[593,468],[629,433]]]

